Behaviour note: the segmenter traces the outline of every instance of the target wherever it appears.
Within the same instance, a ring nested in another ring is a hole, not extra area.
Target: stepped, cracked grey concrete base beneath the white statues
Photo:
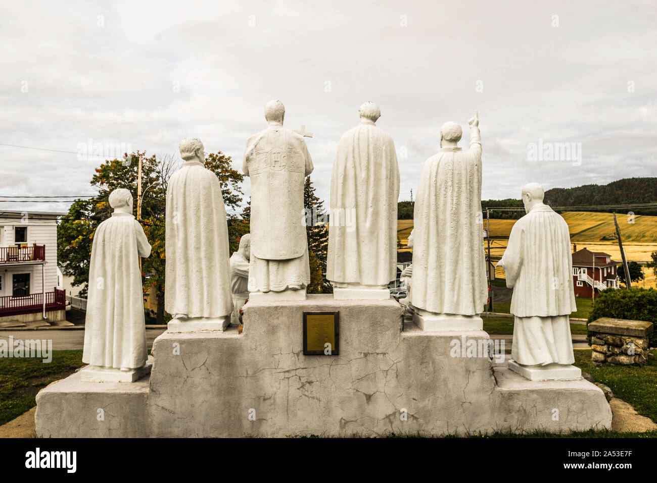
[[[304,356],[304,311],[340,312],[340,355]],[[392,299],[250,300],[242,334],[231,326],[160,335],[150,381],[89,387],[75,374],[42,390],[37,435],[375,436],[610,427],[609,405],[593,384],[528,381],[504,365],[493,368],[487,350],[474,356],[453,350],[471,340],[486,347],[486,332],[426,332],[412,322],[403,326],[402,312]],[[101,407],[110,409],[99,424]]]

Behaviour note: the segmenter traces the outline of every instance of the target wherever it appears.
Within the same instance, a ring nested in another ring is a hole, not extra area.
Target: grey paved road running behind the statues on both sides
[[[158,335],[166,329],[146,329],[146,341],[148,348],[151,348],[153,341]],[[53,350],[64,349],[81,349],[84,345],[84,331],[81,329],[45,329],[45,330],[16,330],[16,331],[0,331],[0,339],[9,340],[9,336],[14,337],[14,341],[28,340],[28,339],[45,339],[53,341]],[[490,334],[491,339],[503,339],[505,348],[511,348],[513,336],[509,334],[499,335]],[[589,348],[586,343],[586,336],[574,334],[572,336],[574,348]]]

